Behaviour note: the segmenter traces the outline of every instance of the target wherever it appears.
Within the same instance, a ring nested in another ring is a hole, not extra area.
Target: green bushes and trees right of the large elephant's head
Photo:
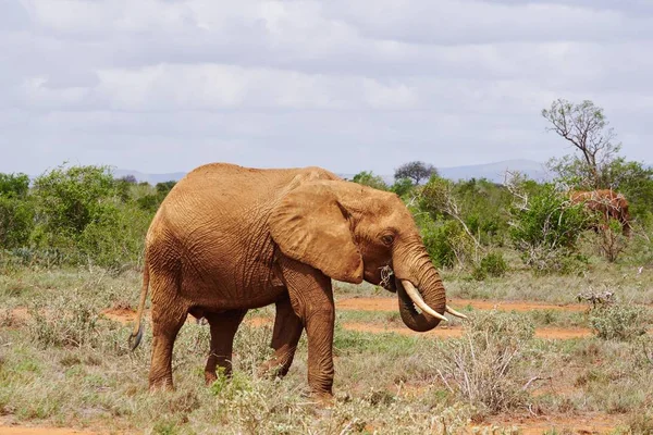
[[[504,256],[512,253],[537,273],[582,271],[594,256],[653,262],[653,170],[620,154],[603,110],[591,101],[556,100],[542,115],[574,150],[547,162],[554,175],[549,183],[518,173],[505,174],[502,184],[452,182],[423,162],[398,167],[390,186],[369,171],[353,181],[399,195],[415,213],[434,263],[468,270],[476,278],[505,273]],[[632,237],[624,235],[620,222],[570,200],[575,190],[600,189],[626,197]]]

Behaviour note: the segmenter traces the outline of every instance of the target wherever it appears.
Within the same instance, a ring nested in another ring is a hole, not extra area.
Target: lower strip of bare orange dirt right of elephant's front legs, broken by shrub
[[[448,327],[436,327],[435,330],[428,331],[426,333],[417,333],[408,330],[407,327],[386,327],[373,325],[364,322],[346,322],[342,326],[348,331],[358,331],[362,333],[382,334],[382,333],[395,333],[399,335],[406,335],[410,337],[438,337],[438,338],[456,338],[463,336],[461,326],[448,326]],[[589,337],[592,332],[589,328],[583,327],[542,327],[535,330],[535,337],[547,338],[547,339],[571,339]]]

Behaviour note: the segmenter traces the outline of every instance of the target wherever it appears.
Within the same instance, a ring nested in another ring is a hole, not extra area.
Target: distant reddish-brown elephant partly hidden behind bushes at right
[[[589,211],[602,216],[603,222],[594,225],[594,231],[605,231],[609,219],[614,219],[621,224],[624,235],[630,237],[631,217],[624,195],[612,189],[572,190],[569,192],[569,199],[572,204],[582,203]]]

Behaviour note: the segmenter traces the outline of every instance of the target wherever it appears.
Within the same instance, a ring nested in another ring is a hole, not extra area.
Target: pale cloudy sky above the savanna
[[[653,163],[652,53],[650,0],[0,0],[0,172],[544,162],[557,98]]]

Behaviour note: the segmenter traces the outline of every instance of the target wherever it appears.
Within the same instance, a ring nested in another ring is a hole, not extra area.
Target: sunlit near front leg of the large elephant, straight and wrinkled
[[[308,337],[308,385],[318,395],[332,395],[335,308],[331,278],[307,264],[284,258],[283,276],[295,313]]]

